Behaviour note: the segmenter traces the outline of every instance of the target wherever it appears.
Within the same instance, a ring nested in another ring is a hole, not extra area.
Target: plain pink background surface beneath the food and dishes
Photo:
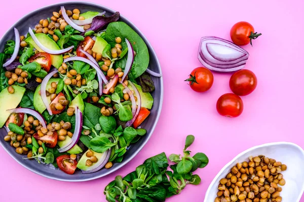
[[[217,172],[241,151],[273,141],[291,141],[304,147],[303,1],[91,1],[120,11],[153,45],[165,91],[157,128],[123,169],[89,182],[41,177],[20,166],[0,147],[1,201],[105,201],[102,191],[116,175],[126,175],[162,151],[167,155],[181,153],[185,136],[193,134],[196,141],[191,150],[206,153],[210,163],[197,172],[202,178],[200,185],[189,185],[167,201],[199,202]],[[3,1],[0,36],[28,12],[59,2]],[[230,29],[238,21],[248,21],[262,33],[253,47],[244,47],[250,53],[246,68],[256,74],[258,85],[252,94],[242,97],[243,114],[229,119],[217,114],[215,104],[220,95],[231,92],[231,74],[214,73],[214,84],[206,93],[192,91],[183,80],[201,66],[197,59],[200,38],[214,35],[230,39]]]

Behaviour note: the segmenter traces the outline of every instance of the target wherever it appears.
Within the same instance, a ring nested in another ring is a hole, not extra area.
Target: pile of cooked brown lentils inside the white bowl
[[[238,163],[220,180],[214,202],[281,202],[287,166],[263,155]],[[280,185],[280,186],[279,186]]]

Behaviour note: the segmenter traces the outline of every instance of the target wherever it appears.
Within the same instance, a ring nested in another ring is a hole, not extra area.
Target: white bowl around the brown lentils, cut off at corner
[[[297,144],[290,142],[262,144],[243,151],[215,176],[207,189],[204,202],[214,202],[219,180],[225,178],[237,163],[248,161],[250,156],[259,155],[264,155],[287,165],[287,170],[282,172],[286,184],[282,186],[283,190],[280,196],[283,198],[282,202],[299,202],[304,191],[304,150]]]

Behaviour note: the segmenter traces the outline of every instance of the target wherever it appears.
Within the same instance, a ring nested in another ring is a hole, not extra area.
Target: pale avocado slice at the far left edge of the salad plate
[[[8,87],[0,92],[0,128],[3,127],[11,114],[7,110],[15,109],[21,102],[21,99],[25,92],[24,87],[18,85],[12,86],[14,88],[13,94],[9,93]]]

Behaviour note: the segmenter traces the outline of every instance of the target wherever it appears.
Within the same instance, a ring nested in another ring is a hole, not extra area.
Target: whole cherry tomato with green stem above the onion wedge
[[[237,45],[252,45],[252,39],[256,39],[261,33],[254,32],[254,28],[248,22],[238,22],[230,30],[230,37]]]

